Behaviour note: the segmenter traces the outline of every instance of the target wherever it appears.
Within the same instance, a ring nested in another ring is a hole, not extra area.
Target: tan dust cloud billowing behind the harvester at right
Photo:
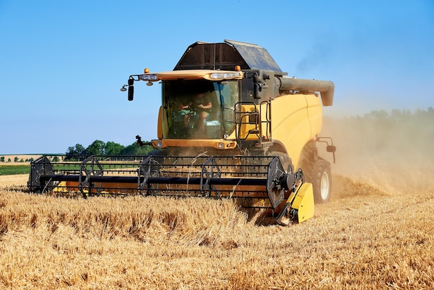
[[[385,194],[434,191],[434,110],[373,111],[363,117],[324,117],[321,136],[337,147],[332,164],[333,194],[349,183]],[[331,153],[320,146],[331,163]],[[363,189],[362,189],[363,188]]]

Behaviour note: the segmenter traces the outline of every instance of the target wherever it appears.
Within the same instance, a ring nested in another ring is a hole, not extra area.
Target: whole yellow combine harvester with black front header
[[[332,139],[318,137],[322,105],[333,104],[334,85],[286,75],[255,44],[191,44],[173,71],[145,69],[121,88],[128,87],[132,101],[134,82],[162,84],[158,139],[151,142],[157,155],[67,162],[42,156],[31,164],[28,187],[85,197],[235,198],[280,224],[305,221],[314,201],[327,202],[331,194],[330,164],[318,156],[317,144],[327,144],[334,160]]]

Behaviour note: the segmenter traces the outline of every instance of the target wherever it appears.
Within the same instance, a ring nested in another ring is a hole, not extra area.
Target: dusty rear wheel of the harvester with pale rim
[[[315,203],[327,203],[331,197],[331,170],[329,162],[319,159],[304,171],[306,182],[313,186]]]

